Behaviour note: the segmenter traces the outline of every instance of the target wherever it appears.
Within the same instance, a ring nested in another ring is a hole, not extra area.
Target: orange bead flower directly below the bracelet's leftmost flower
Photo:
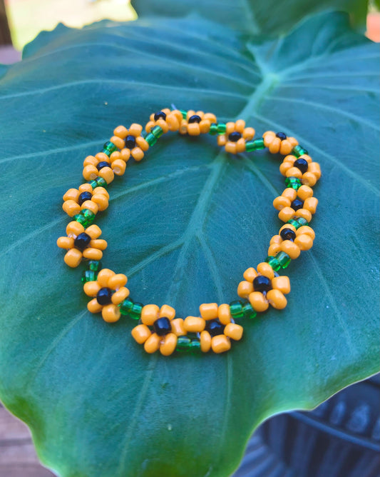
[[[96,281],[88,281],[83,285],[83,291],[93,300],[87,304],[88,311],[99,313],[107,323],[115,323],[120,319],[118,305],[129,296],[128,288],[123,286],[127,283],[127,277],[123,273],[116,274],[108,268],[102,268]]]

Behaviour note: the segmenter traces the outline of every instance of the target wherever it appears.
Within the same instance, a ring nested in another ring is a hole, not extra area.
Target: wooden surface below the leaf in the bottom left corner
[[[38,463],[29,429],[0,403],[0,477],[53,477]]]

